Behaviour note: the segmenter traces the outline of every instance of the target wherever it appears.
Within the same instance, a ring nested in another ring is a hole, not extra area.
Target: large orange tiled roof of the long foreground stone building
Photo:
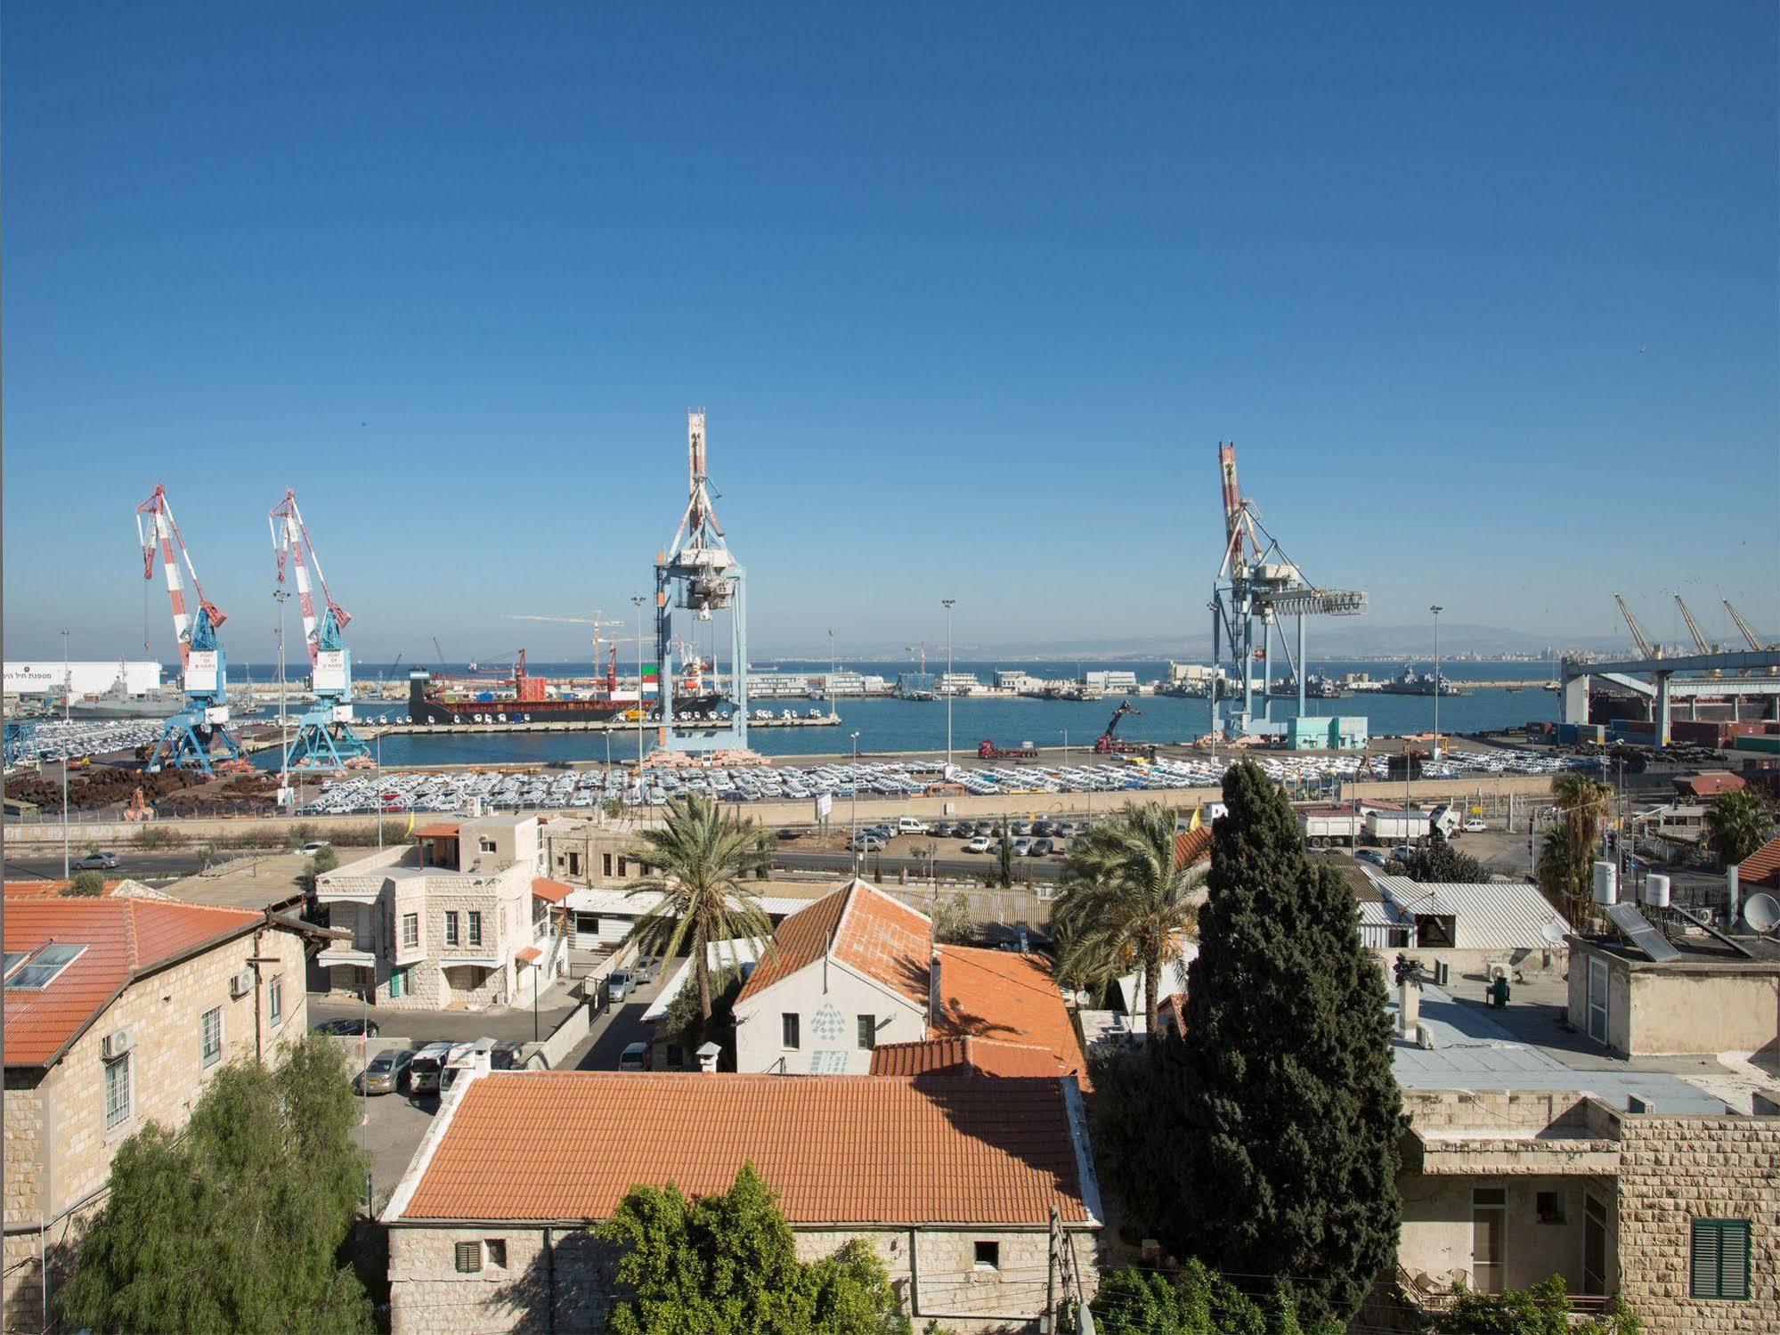
[[[479,1077],[395,1219],[605,1219],[744,1162],[794,1225],[1091,1221],[1059,1080],[664,1072]]]

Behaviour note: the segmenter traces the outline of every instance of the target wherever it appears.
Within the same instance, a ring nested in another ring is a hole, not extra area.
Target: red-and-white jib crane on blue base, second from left
[[[297,735],[285,749],[285,769],[344,771],[349,760],[358,760],[370,748],[352,732],[352,650],[345,646],[347,621],[352,614],[333,600],[322,562],[315,557],[315,543],[297,509],[297,493],[285,490],[269,513],[272,529],[272,555],[278,557],[278,582],[285,582],[288,566],[297,584],[297,607],[303,609],[303,646],[310,653],[310,691],[315,701],[304,707],[297,719]],[[315,584],[310,584],[310,573]],[[322,609],[315,612],[315,589],[320,589]]]

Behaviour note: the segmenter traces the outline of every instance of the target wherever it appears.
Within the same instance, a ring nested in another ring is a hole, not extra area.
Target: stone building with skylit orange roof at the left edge
[[[5,901],[7,1330],[43,1330],[125,1137],[183,1125],[214,1072],[303,1038],[303,926],[271,913]]]

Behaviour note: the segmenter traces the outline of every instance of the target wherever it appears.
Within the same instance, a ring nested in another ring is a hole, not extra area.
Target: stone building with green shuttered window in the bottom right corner
[[[1780,1330],[1780,1095],[1753,1114],[1622,1109],[1575,1091],[1406,1091],[1399,1283],[1561,1274],[1579,1312],[1623,1298],[1646,1331]]]

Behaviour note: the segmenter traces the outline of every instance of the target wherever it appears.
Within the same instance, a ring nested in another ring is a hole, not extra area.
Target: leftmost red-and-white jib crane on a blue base
[[[135,507],[135,536],[142,543],[142,578],[155,578],[157,554],[167,577],[173,635],[180,644],[180,682],[185,691],[185,707],[162,726],[160,740],[148,758],[148,773],[174,765],[212,774],[212,758],[217,751],[224,762],[242,762],[240,739],[228,726],[228,659],[222,653],[222,641],[217,639],[226,612],[205,598],[198,570],[185,550],[185,539],[180,538],[180,525],[173,520],[173,507],[167,506],[167,491],[160,482],[150,498]],[[196,616],[185,609],[182,562],[192,577]]]

